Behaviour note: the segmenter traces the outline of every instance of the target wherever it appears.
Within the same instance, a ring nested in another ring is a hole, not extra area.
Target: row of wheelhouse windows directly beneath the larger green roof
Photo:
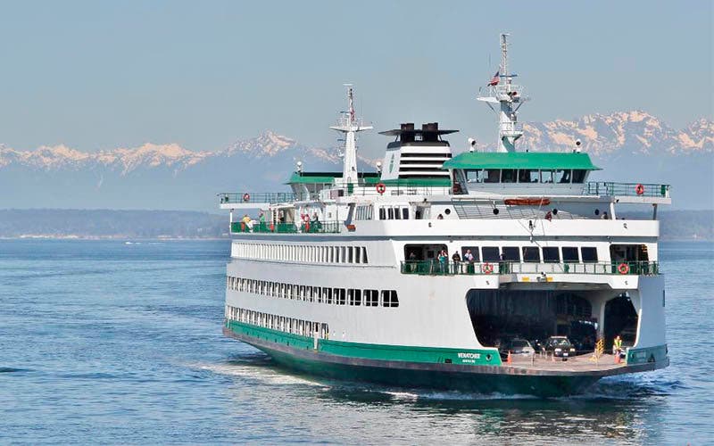
[[[466,169],[467,183],[558,183],[585,182],[585,169]]]

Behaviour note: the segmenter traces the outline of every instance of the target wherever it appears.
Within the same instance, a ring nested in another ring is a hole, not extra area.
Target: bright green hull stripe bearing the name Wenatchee
[[[273,343],[283,343],[296,349],[314,350],[315,340],[308,336],[292,335],[278,330],[228,320],[226,326],[238,335],[257,337]],[[469,366],[500,366],[498,351],[468,350],[439,347],[413,347],[376,343],[345,343],[328,339],[318,340],[318,351],[347,358],[380,359],[436,364],[464,364]]]

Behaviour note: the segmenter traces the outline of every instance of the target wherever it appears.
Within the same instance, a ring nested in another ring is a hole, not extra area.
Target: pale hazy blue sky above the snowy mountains
[[[273,129],[329,146],[348,81],[378,130],[437,120],[491,141],[474,97],[502,30],[533,99],[521,120],[636,108],[678,128],[712,115],[712,4],[6,1],[0,143],[217,150]]]

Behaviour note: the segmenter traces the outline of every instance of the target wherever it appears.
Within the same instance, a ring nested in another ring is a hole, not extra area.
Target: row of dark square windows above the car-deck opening
[[[465,259],[466,252],[470,250],[474,261],[523,261],[534,263],[597,263],[597,248],[591,246],[477,246],[461,247],[461,259]],[[522,257],[521,257],[522,256]]]

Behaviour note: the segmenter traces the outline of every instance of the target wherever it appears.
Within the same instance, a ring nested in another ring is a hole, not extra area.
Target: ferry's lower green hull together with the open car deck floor
[[[541,397],[568,395],[583,392],[603,376],[668,366],[666,356],[651,362],[617,364],[612,355],[604,355],[597,362],[586,357],[562,361],[536,355],[528,359],[512,359],[511,363],[479,365],[454,363],[444,351],[432,356],[431,360],[417,360],[412,358],[413,348],[406,347],[400,352],[398,348],[394,350],[394,346],[382,351],[386,356],[381,357],[375,357],[363,346],[351,349],[349,345],[342,346],[344,354],[336,354],[334,349],[325,348],[325,340],[317,337],[286,336],[275,330],[231,320],[226,321],[223,333],[266,352],[278,364],[312,375],[469,392],[526,393]],[[456,353],[456,357],[477,358],[477,355]]]

